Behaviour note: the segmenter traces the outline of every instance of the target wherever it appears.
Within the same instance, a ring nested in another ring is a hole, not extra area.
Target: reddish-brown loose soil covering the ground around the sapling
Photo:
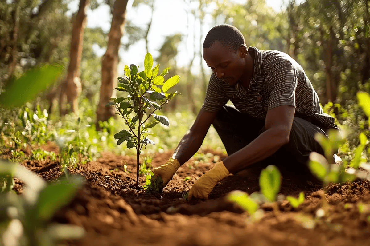
[[[182,197],[195,180],[209,170],[222,153],[204,150],[205,155],[185,163],[162,194],[150,195],[135,190],[136,158],[102,153],[97,161],[70,170],[86,178],[71,204],[62,208],[53,220],[85,228],[81,240],[66,245],[370,245],[370,186],[367,181],[332,185],[327,189],[323,218],[315,218],[322,207],[323,191],[305,177],[285,175],[280,194],[296,196],[304,191],[306,200],[297,209],[289,202],[263,204],[264,214],[252,222],[243,212],[225,200],[232,190],[251,194],[259,190],[258,177],[229,175],[213,189],[206,201],[185,201]],[[211,153],[209,153],[211,152]],[[206,154],[208,153],[208,154]],[[171,153],[158,153],[152,160],[157,167]],[[55,161],[23,163],[47,181],[62,173]],[[127,164],[127,171],[124,165]],[[273,164],[273,163],[272,163]],[[184,181],[185,177],[191,179]],[[145,178],[140,177],[140,183]],[[16,180],[21,192],[22,183]],[[362,213],[358,207],[363,208]],[[365,209],[364,209],[365,208]]]

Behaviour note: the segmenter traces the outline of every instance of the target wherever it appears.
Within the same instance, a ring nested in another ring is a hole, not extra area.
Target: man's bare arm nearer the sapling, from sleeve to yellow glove
[[[199,111],[194,124],[182,137],[172,155],[172,158],[177,159],[180,165],[188,161],[201,147],[216,115],[217,112],[207,112],[202,109]]]

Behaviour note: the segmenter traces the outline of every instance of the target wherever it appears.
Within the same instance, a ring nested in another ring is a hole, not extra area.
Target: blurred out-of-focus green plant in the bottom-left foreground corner
[[[83,236],[84,230],[79,226],[50,223],[54,213],[68,204],[83,184],[80,176],[47,185],[25,167],[3,160],[0,160],[0,174],[18,177],[26,186],[22,196],[9,192],[0,194],[0,218],[6,225],[1,234],[7,235],[14,245],[55,245],[61,239]],[[20,235],[11,233],[15,226]]]

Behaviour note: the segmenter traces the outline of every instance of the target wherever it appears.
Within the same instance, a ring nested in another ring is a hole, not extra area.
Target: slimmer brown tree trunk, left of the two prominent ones
[[[80,0],[80,6],[78,7],[78,12],[73,23],[67,79],[61,85],[59,101],[60,114],[67,112],[67,110],[63,109],[64,94],[67,96],[67,104],[71,106],[70,111],[77,113],[77,98],[81,93],[80,65],[86,26],[86,8],[89,3],[90,0]]]

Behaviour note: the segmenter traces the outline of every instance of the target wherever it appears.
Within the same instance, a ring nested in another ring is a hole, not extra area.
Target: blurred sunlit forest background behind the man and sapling
[[[164,5],[173,6],[171,13],[161,11]],[[106,7],[108,13],[91,15],[102,25],[87,26],[87,13]],[[168,16],[168,25],[154,28],[158,13],[162,19]],[[172,31],[174,23],[182,25],[181,32]],[[171,68],[168,77],[181,77],[173,89],[182,96],[164,108],[162,114],[170,119],[171,127],[152,130],[156,146],[148,146],[147,152],[173,149],[194,121],[205,96],[211,70],[202,59],[203,39],[212,26],[222,23],[242,31],[248,46],[286,52],[302,65],[324,110],[335,113],[343,129],[351,129],[342,149],[350,155],[351,148],[359,144],[358,134],[351,138],[350,133],[367,129],[356,93],[370,92],[368,0],[1,1],[0,91],[35,67],[63,67],[59,79],[35,100],[11,110],[0,109],[2,134],[13,134],[11,144],[16,150],[15,134],[21,133],[18,139],[27,137],[27,124],[20,122],[28,117],[29,128],[34,129],[28,132],[37,132],[42,126],[43,138],[41,141],[40,132],[36,137],[28,134],[28,142],[19,140],[19,144],[60,143],[75,139],[77,134],[87,146],[88,156],[108,149],[130,153],[115,143],[113,135],[124,122],[111,118],[114,108],[105,104],[116,96],[114,88],[124,65],[143,67],[145,53],[151,52],[161,69]],[[213,129],[206,145],[223,148]]]

